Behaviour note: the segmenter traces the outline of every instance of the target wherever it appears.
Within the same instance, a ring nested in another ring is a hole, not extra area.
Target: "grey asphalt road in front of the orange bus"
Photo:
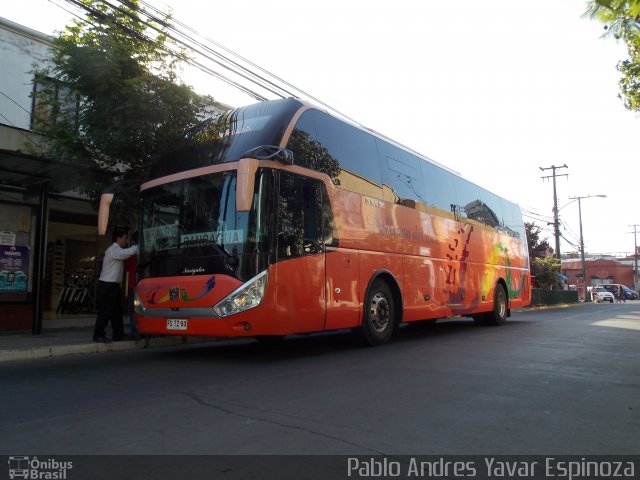
[[[638,454],[640,302],[0,365],[0,454]]]

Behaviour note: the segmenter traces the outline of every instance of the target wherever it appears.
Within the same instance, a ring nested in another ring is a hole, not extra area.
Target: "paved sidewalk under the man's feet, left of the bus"
[[[31,331],[0,331],[0,363],[65,355],[122,352],[142,348],[175,347],[185,343],[215,341],[202,337],[157,337],[111,343],[93,341],[94,316],[46,319],[41,335]],[[127,326],[125,325],[125,328]]]

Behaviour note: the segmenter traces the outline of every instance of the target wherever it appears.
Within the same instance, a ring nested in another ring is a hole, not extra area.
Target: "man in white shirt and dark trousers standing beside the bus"
[[[102,261],[102,271],[96,291],[96,325],[93,329],[94,342],[108,342],[105,329],[109,322],[113,329],[113,340],[115,342],[125,340],[124,325],[122,321],[122,292],[120,284],[122,282],[122,272],[124,261],[131,255],[138,253],[138,247],[126,248],[129,244],[127,232],[115,229],[112,235],[113,244],[107,248]]]

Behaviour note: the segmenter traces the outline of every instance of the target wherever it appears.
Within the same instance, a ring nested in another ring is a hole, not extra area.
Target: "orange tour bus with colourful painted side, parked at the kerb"
[[[297,99],[209,127],[140,187],[141,333],[381,345],[401,322],[500,325],[530,303],[516,204]]]

